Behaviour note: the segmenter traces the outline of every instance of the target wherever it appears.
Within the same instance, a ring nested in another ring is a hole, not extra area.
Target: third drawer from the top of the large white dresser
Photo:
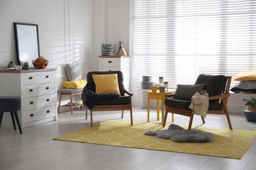
[[[25,111],[55,105],[55,95],[41,95],[38,97],[24,98],[23,104]]]

